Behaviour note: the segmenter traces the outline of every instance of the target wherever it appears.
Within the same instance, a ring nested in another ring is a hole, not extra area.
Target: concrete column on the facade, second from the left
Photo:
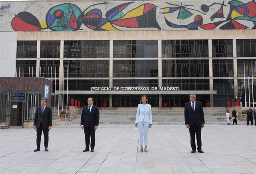
[[[62,88],[63,88],[63,58],[64,58],[64,40],[60,41],[60,78],[59,78],[59,85],[60,85],[60,105],[62,105]],[[65,102],[65,101],[64,101]]]

